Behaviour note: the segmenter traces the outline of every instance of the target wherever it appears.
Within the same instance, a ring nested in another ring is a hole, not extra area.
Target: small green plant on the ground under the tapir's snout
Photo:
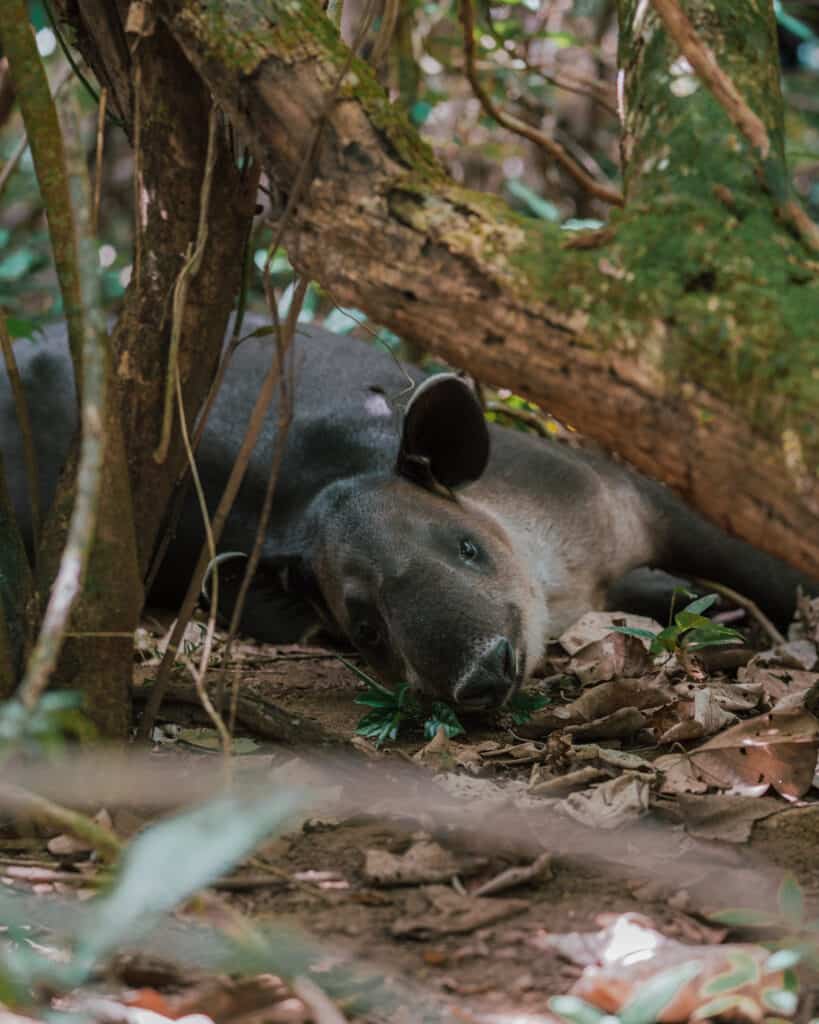
[[[407,683],[402,683],[397,689],[391,690],[361,669],[351,665],[346,658],[341,657],[339,660],[367,687],[361,696],[356,697],[355,702],[365,705],[372,710],[358,721],[355,732],[359,736],[372,739],[376,746],[395,739],[404,724],[413,727],[423,722],[425,739],[432,739],[440,728],[443,728],[450,738],[466,733],[455,711],[443,700],[434,700],[425,718],[425,711]],[[546,703],[548,698],[542,694],[521,691],[512,697],[505,710],[511,714],[515,725],[522,725],[529,720],[532,712]]]

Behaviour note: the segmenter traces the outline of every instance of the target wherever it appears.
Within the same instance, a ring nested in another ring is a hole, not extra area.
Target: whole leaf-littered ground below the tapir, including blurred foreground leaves
[[[242,714],[273,701],[341,742],[238,740],[228,796],[178,707],[154,754],[43,767],[33,748],[82,736],[76,708],[5,706],[0,1002],[191,1024],[805,1013],[819,607],[763,654],[721,643],[719,663],[692,643],[720,635],[704,610],[662,641],[656,624],[587,616],[525,723],[464,718],[455,734],[439,712],[426,742],[407,721],[380,748],[356,735],[369,691],[335,653],[240,647]],[[85,827],[67,805],[104,810]]]

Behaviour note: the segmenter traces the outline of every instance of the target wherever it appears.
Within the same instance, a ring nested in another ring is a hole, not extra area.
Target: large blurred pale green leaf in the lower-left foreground
[[[112,890],[94,901],[75,970],[86,976],[101,956],[215,881],[282,828],[301,802],[295,790],[220,797],[141,833],[126,850]]]

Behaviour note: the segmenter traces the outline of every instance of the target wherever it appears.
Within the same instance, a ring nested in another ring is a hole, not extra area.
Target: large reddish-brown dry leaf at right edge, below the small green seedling
[[[708,785],[760,795],[772,786],[789,800],[813,784],[819,721],[802,709],[773,711],[714,736],[688,757]]]

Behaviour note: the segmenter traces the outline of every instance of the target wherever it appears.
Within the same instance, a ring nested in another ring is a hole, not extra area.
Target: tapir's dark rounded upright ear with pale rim
[[[455,374],[419,384],[403,418],[398,473],[454,490],[477,480],[488,459],[489,431],[469,385]]]

